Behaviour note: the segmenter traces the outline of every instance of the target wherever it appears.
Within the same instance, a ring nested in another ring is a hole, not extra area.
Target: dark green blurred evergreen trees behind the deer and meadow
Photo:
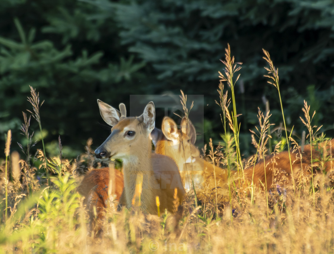
[[[263,76],[262,48],[279,69],[287,124],[297,139],[306,130],[299,119],[304,99],[317,111],[313,124],[334,135],[333,1],[1,0],[0,147],[8,129],[12,150],[26,142],[19,129],[22,111],[32,109],[29,85],[45,100],[40,115],[48,154],[57,153],[59,135],[67,157],[82,153],[90,137],[93,147],[107,138],[98,98],[129,107],[130,95],[180,89],[204,95],[197,131],[204,143],[217,144],[223,129],[214,100],[227,43],[243,63],[235,86],[243,154],[254,152],[248,130],[258,123],[257,108],[265,110],[264,98],[270,121],[282,122],[277,89]],[[37,126],[32,119],[35,140]]]

